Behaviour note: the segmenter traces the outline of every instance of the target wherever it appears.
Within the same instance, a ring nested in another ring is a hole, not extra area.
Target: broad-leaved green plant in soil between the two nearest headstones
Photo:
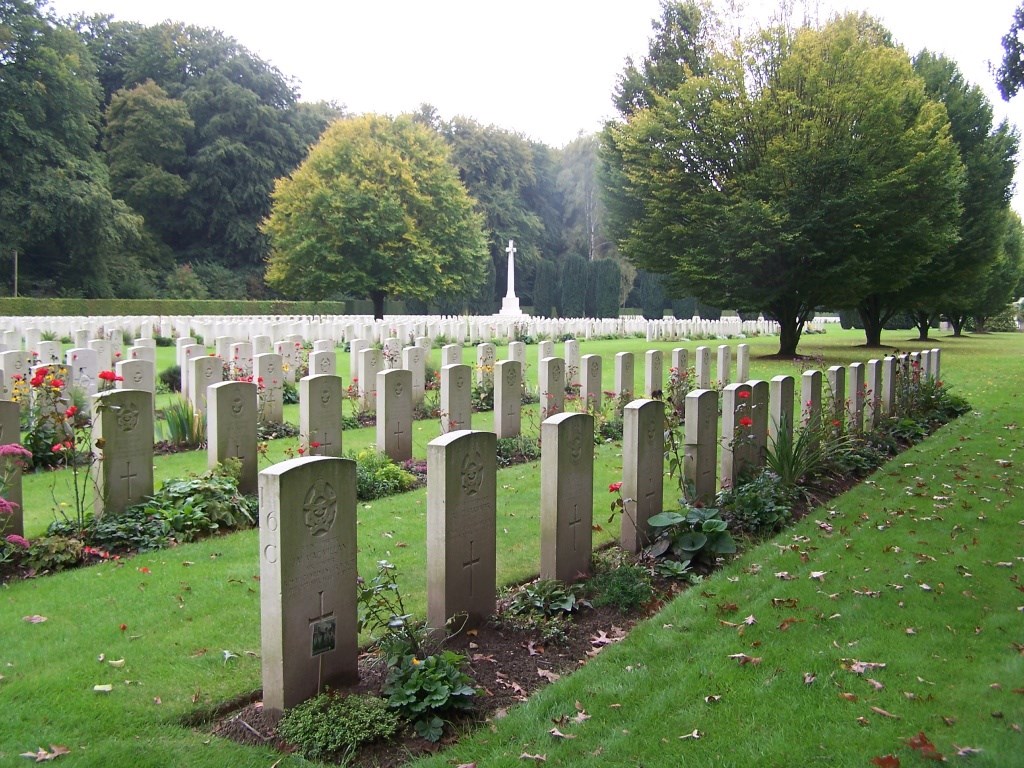
[[[418,658],[404,656],[391,667],[384,681],[388,707],[413,723],[428,741],[437,741],[444,728],[442,715],[472,709],[476,689],[462,668],[466,657],[451,650]]]

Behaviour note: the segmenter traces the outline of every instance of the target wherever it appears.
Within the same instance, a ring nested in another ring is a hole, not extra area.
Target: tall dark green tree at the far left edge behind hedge
[[[22,254],[27,292],[115,296],[112,267],[141,222],[112,197],[95,152],[92,60],[41,8],[0,0],[0,243]]]

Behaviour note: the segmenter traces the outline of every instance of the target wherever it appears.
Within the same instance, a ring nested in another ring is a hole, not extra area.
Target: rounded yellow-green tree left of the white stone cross
[[[444,141],[410,116],[336,122],[272,201],[266,282],[286,296],[367,296],[383,317],[388,296],[472,290],[488,258]]]

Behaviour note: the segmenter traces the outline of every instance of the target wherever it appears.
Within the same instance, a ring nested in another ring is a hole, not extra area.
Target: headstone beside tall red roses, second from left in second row
[[[153,496],[153,393],[101,392],[93,398],[94,514],[118,515]]]

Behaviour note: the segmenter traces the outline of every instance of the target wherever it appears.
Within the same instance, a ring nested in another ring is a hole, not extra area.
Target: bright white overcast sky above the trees
[[[865,10],[911,53],[945,53],[996,110],[1024,128],[1024,94],[1007,104],[990,69],[1020,0],[790,0],[824,22]],[[743,0],[714,0],[716,7]],[[777,3],[746,0],[766,17]],[[58,14],[112,13],[213,27],[298,83],[305,100],[397,114],[428,102],[562,146],[613,116],[627,56],[647,49],[658,0],[51,0]],[[1024,174],[1018,174],[1024,212]]]

